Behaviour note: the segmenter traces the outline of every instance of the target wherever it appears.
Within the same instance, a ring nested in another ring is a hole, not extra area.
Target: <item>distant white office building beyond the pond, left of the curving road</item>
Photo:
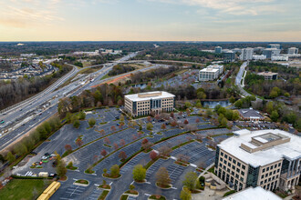
[[[199,73],[200,81],[213,81],[223,74],[223,65],[209,65],[207,68],[203,68]]]

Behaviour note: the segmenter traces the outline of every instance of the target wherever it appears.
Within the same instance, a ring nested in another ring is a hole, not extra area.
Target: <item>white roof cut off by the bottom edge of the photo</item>
[[[229,195],[223,200],[280,200],[279,196],[275,195],[269,190],[265,190],[260,186],[248,187],[241,192],[234,193],[234,195]]]

